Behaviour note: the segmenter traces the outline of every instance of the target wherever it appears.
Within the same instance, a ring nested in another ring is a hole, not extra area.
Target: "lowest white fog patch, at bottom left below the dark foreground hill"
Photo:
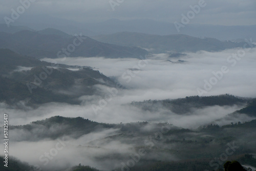
[[[133,145],[123,144],[119,141],[104,143],[100,140],[114,135],[115,131],[105,130],[100,133],[91,133],[79,139],[64,137],[57,140],[46,139],[37,142],[12,141],[10,142],[10,154],[22,159],[22,161],[29,162],[31,165],[38,165],[40,168],[47,170],[67,169],[79,163],[102,170],[109,170],[113,169],[121,161],[110,159],[108,156],[115,154],[129,156],[130,153],[134,153]],[[101,143],[90,144],[89,142],[93,140],[98,140]],[[46,153],[50,154],[50,158],[46,157]],[[105,159],[99,160],[100,158]]]

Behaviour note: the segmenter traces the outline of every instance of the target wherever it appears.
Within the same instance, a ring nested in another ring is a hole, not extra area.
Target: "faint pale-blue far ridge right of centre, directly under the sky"
[[[84,28],[93,30],[98,35],[126,31],[157,35],[185,34],[194,37],[212,37],[220,40],[234,40],[238,38],[256,39],[256,25],[222,26],[188,24],[184,28],[180,28],[180,32],[178,32],[174,23],[160,22],[152,19],[109,19],[98,23],[88,23]]]

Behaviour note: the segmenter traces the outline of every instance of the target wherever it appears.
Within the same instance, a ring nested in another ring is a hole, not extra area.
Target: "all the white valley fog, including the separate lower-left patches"
[[[115,79],[117,89],[96,85],[95,87],[102,96],[81,96],[79,98],[82,101],[80,105],[52,102],[32,109],[26,101],[20,101],[18,109],[2,102],[0,103],[0,113],[9,114],[9,124],[11,125],[28,124],[52,116],[83,117],[103,123],[168,122],[187,129],[197,129],[199,126],[209,123],[224,125],[230,122],[249,121],[254,118],[247,115],[237,115],[236,117],[229,115],[242,109],[246,104],[206,106],[193,109],[182,115],[161,108],[155,111],[145,111],[130,104],[132,101],[176,99],[200,95],[198,88],[204,89],[204,80],[209,82],[215,76],[212,72],[219,73],[222,71],[222,66],[226,66],[225,71],[228,72],[222,73],[222,78],[216,79],[218,80],[217,83],[212,85],[211,90],[204,91],[203,96],[227,93],[255,98],[256,48],[246,50],[241,59],[232,58],[232,54],[239,54],[239,52],[239,49],[222,52],[200,51],[187,53],[186,56],[179,58],[169,58],[168,54],[153,54],[146,56],[146,59],[143,60],[133,58],[107,59],[104,57],[45,58],[43,60],[48,62],[56,60],[66,65],[93,67],[104,75]],[[175,63],[178,60],[184,60],[184,62]],[[20,67],[20,70],[24,69],[26,68]],[[106,103],[100,103],[102,100]],[[65,125],[63,126],[65,127]],[[58,125],[58,127],[52,127],[51,131],[61,130],[64,127]],[[143,127],[143,130],[155,130],[155,127],[154,125]],[[41,129],[38,129],[30,134],[21,130],[14,130],[11,135],[13,141],[10,142],[10,154],[30,164],[39,163],[42,168],[62,167],[64,169],[81,163],[108,170],[120,167],[121,162],[109,158],[109,156],[121,154],[129,158],[131,153],[136,153],[134,144],[126,144],[121,140],[104,140],[105,137],[119,133],[119,129],[105,129],[92,132],[78,139],[60,137],[64,139],[64,148],[57,151],[56,156],[45,166],[39,158],[45,152],[50,152],[58,140],[44,139],[33,142],[37,140],[36,138],[33,139],[33,136],[40,134],[40,131]],[[2,155],[3,152],[0,154]],[[164,153],[161,155],[162,160],[164,160]],[[158,159],[159,155],[148,155],[146,158]],[[171,159],[177,160],[176,157],[171,157]]]

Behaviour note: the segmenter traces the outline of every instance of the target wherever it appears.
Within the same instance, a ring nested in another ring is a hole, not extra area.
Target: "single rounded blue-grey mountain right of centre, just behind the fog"
[[[215,38],[202,39],[182,34],[160,36],[144,33],[119,32],[110,35],[94,36],[93,38],[109,44],[146,48],[155,53],[164,53],[166,51],[221,51],[243,47],[244,45],[242,42],[220,41]]]

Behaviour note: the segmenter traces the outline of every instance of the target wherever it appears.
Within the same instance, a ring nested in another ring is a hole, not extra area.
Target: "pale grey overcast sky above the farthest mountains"
[[[110,1],[121,3],[112,8]],[[10,17],[11,9],[16,11],[20,1],[0,2],[1,23],[4,23],[4,16]],[[191,10],[190,5],[198,3],[199,0],[37,0],[22,15],[49,15],[78,22],[147,18],[174,23],[181,21],[182,13],[186,15]],[[205,0],[205,3],[189,24],[256,25],[255,0]]]

